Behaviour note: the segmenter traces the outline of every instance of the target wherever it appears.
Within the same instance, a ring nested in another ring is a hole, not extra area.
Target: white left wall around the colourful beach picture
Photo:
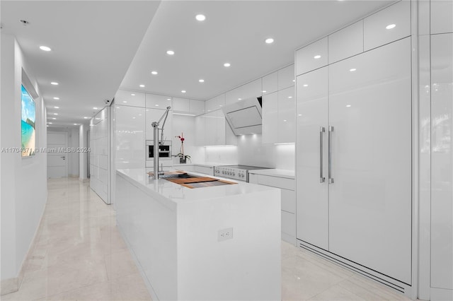
[[[21,74],[28,74],[38,95],[21,48],[11,35],[1,34],[1,148],[21,147]],[[46,111],[35,99],[36,147],[47,146]],[[1,160],[1,281],[18,277],[33,242],[47,200],[47,154],[32,158],[2,152]],[[11,282],[8,282],[10,284]],[[16,280],[17,283],[17,280]],[[5,288],[2,285],[2,293]]]

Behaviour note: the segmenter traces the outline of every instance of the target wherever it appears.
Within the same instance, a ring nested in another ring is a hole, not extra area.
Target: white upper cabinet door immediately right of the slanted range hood
[[[278,141],[278,93],[263,95],[263,143]]]

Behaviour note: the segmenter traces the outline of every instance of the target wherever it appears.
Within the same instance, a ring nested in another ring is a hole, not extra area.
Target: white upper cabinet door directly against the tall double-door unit
[[[278,143],[296,141],[295,109],[294,87],[278,91]]]

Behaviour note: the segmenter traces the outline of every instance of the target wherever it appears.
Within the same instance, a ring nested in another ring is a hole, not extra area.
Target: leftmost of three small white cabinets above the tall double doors
[[[300,75],[328,64],[327,37],[311,43],[296,52],[296,74]]]

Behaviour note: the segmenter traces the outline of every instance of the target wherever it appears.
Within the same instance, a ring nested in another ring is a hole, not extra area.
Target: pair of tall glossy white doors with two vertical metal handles
[[[408,285],[411,109],[410,38],[297,78],[297,238]]]

